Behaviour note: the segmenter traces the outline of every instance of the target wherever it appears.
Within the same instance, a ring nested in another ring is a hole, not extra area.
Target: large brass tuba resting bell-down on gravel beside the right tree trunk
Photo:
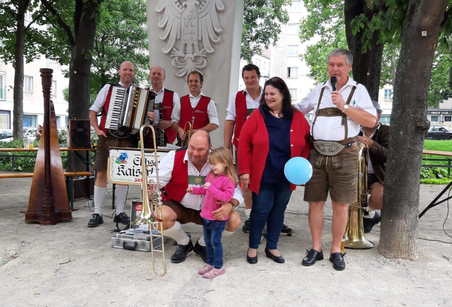
[[[366,239],[363,226],[363,210],[367,210],[367,148],[358,147],[358,178],[356,181],[356,201],[348,205],[348,223],[344,233],[344,247],[369,249],[375,246]]]

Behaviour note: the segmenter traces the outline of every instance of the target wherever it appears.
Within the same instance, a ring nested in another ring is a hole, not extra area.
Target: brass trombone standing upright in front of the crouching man
[[[152,136],[154,139],[154,159],[155,162],[153,164],[147,164],[146,165],[146,157],[144,154],[144,137],[143,137],[143,130],[144,128],[149,128],[152,130]],[[135,221],[132,222],[133,225],[149,225],[150,234],[151,234],[151,258],[152,258],[152,270],[154,271],[154,274],[157,276],[164,276],[166,274],[166,262],[165,262],[165,238],[163,237],[163,219],[162,217],[162,196],[160,194],[160,187],[159,187],[159,163],[157,161],[157,144],[155,141],[155,130],[152,125],[143,125],[140,128],[140,140],[141,140],[141,172],[142,172],[142,199],[143,199],[143,209],[141,211],[140,216],[137,217]],[[153,179],[151,181],[148,181],[147,179],[147,167],[149,166],[155,166],[155,176],[156,181]],[[147,192],[147,184],[155,184],[156,188],[153,189],[151,192],[151,195],[148,195]],[[152,230],[158,230],[160,229],[160,234],[153,234]],[[154,237],[160,237],[162,242],[162,249],[157,250],[154,249]],[[162,261],[163,261],[163,273],[157,272],[155,269],[155,257],[154,252],[161,252],[162,253]]]

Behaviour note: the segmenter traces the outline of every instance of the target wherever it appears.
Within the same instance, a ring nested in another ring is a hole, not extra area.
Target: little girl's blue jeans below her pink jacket
[[[208,223],[215,223],[216,227],[208,226]],[[221,223],[224,222],[224,223]],[[225,230],[226,221],[209,221],[201,218],[204,230],[204,242],[206,242],[207,264],[213,265],[216,269],[223,267],[223,246],[221,245],[221,234]]]

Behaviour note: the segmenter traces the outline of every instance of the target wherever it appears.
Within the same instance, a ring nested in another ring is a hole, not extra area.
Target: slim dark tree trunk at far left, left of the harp
[[[24,39],[25,12],[29,0],[19,0],[17,4],[17,28],[14,55],[14,89],[13,89],[13,137],[22,139],[24,132]],[[35,89],[36,90],[36,89]]]

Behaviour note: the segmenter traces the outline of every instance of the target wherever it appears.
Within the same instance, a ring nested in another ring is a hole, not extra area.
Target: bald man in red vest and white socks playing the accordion
[[[118,139],[104,127],[103,121],[99,126],[97,115],[106,117],[113,86],[123,86],[129,88],[132,86],[135,78],[135,66],[129,62],[122,62],[118,70],[119,83],[105,84],[100,90],[92,107],[89,108],[89,118],[96,134],[99,136],[97,143],[96,159],[93,169],[97,171],[96,182],[94,183],[94,214],[89,219],[88,227],[97,227],[104,223],[102,218],[102,204],[104,203],[105,193],[107,192],[107,158],[110,154],[109,147],[137,147],[138,139],[136,136],[129,136],[125,139]],[[124,212],[126,204],[128,186],[116,186],[116,215],[114,222],[122,224],[130,223],[130,218]]]

